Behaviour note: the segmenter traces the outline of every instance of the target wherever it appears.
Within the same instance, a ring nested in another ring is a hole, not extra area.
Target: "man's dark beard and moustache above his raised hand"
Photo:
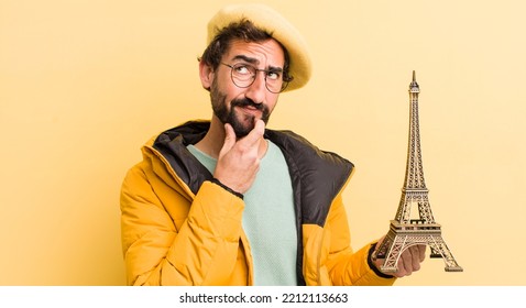
[[[230,110],[227,108],[227,96],[221,94],[217,86],[217,79],[213,79],[210,89],[210,100],[212,103],[213,114],[224,124],[232,125],[235,136],[238,139],[248,135],[254,129],[254,116],[243,116],[235,112],[235,107],[252,107],[261,111],[261,120],[269,122],[271,112],[269,108],[263,103],[255,103],[249,98],[233,99],[230,102]]]

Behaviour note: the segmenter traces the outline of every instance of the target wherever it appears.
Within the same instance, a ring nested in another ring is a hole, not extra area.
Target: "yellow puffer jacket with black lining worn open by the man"
[[[130,285],[252,285],[243,199],[186,150],[209,122],[165,131],[143,148],[121,190],[122,248]],[[392,285],[373,271],[372,244],[353,252],[341,194],[353,165],[288,131],[265,131],[282,150],[294,188],[297,276],[303,285]],[[277,253],[277,252],[276,252]]]

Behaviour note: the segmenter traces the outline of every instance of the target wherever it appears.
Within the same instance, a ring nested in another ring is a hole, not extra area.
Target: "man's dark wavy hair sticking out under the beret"
[[[200,61],[210,65],[213,70],[216,70],[221,63],[222,56],[230,48],[231,42],[234,40],[241,40],[243,42],[263,42],[272,38],[272,33],[267,33],[257,26],[255,26],[250,20],[241,20],[239,22],[230,23],[228,26],[223,28],[219,33],[213,37],[208,47],[202,53]],[[288,57],[287,50],[277,42],[283,50],[285,55],[285,64],[283,67],[283,80],[291,81],[292,76],[288,75],[288,69],[291,65],[291,59]]]

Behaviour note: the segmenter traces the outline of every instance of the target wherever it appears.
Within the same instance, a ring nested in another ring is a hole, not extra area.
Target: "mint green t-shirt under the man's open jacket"
[[[243,230],[254,263],[254,285],[297,285],[297,232],[293,188],[282,151],[271,141],[252,187],[243,195]],[[217,161],[188,145],[213,174]]]

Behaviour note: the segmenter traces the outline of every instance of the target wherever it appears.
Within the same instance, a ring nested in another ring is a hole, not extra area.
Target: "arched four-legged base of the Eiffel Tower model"
[[[398,260],[402,253],[413,246],[424,244],[431,250],[430,257],[441,257],[446,263],[446,272],[462,272],[453,255],[442,239],[439,224],[414,226],[391,223],[391,229],[381,243],[374,258],[384,258],[380,267],[384,273],[395,273],[398,270]]]

